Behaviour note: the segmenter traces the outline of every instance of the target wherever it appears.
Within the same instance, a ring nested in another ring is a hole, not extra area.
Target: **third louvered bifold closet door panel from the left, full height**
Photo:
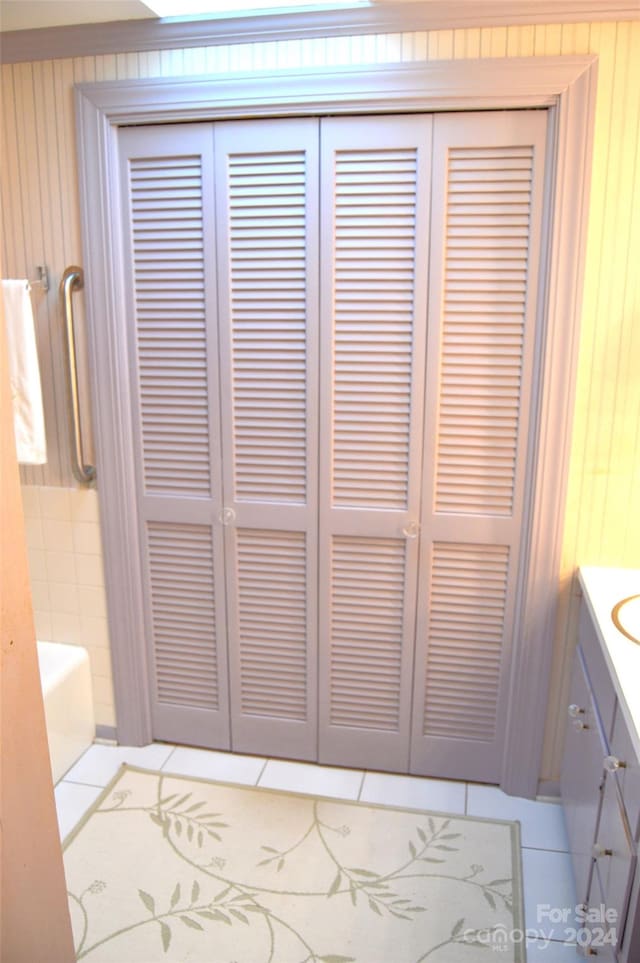
[[[431,119],[322,121],[320,760],[406,771]]]

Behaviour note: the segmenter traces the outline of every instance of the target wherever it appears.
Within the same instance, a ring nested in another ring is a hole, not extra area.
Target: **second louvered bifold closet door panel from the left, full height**
[[[318,123],[216,128],[232,744],[316,757]]]

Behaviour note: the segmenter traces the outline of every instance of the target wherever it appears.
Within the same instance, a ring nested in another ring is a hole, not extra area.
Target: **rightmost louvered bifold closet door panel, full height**
[[[499,781],[536,370],[545,111],[434,119],[411,768]]]

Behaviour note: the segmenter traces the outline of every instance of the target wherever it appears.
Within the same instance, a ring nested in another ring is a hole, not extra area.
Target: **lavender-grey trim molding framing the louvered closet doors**
[[[125,345],[108,319],[124,310],[117,133],[122,124],[269,115],[551,108],[550,217],[540,302],[546,312],[529,453],[534,494],[526,523],[528,565],[513,640],[510,710],[501,786],[534,796],[542,758],[562,549],[590,186],[597,58],[438,61],[336,70],[256,72],[80,84],[75,89],[93,410],[118,736],[151,739],[142,637],[133,430]],[[137,540],[136,540],[137,541]],[[116,546],[120,546],[118,550]],[[124,551],[127,546],[127,551]]]

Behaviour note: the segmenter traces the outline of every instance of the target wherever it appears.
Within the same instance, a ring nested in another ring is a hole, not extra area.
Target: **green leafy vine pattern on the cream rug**
[[[403,921],[411,925],[419,914],[428,911],[429,907],[420,905],[415,899],[408,899],[403,883],[407,880],[440,879],[455,881],[457,884],[475,890],[482,895],[487,906],[496,910],[502,906],[508,914],[513,911],[512,880],[509,877],[499,877],[489,881],[483,880],[484,868],[478,863],[472,863],[468,872],[463,876],[452,876],[446,872],[446,864],[451,854],[460,852],[462,833],[451,831],[451,820],[446,817],[433,817],[425,814],[415,814],[415,824],[410,834],[405,837],[405,856],[397,861],[391,870],[380,872],[372,866],[345,865],[340,856],[336,843],[346,839],[351,833],[348,825],[332,826],[321,818],[323,801],[309,799],[309,822],[302,833],[289,841],[288,845],[278,847],[274,840],[264,842],[260,846],[255,865],[258,875],[253,877],[252,883],[245,879],[232,878],[225,874],[225,859],[216,855],[208,863],[198,862],[194,856],[193,847],[197,852],[206,848],[206,840],[210,846],[224,845],[225,830],[229,828],[233,815],[224,816],[220,812],[210,812],[207,803],[202,799],[194,799],[193,793],[172,793],[163,795],[165,777],[158,774],[157,800],[153,805],[127,805],[130,794],[127,791],[114,792],[110,799],[105,800],[97,810],[97,814],[139,811],[160,831],[160,839],[164,839],[182,863],[188,864],[194,872],[190,884],[176,881],[172,885],[171,895],[160,896],[159,892],[150,893],[145,889],[138,889],[138,896],[142,904],[140,918],[128,926],[114,929],[113,932],[100,939],[89,941],[90,921],[92,914],[100,915],[100,897],[106,889],[106,884],[95,880],[80,895],[70,893],[70,901],[80,914],[81,932],[77,939],[77,959],[91,960],[99,947],[117,940],[127,933],[139,931],[145,927],[157,927],[160,945],[164,954],[172,947],[175,927],[186,928],[201,933],[207,938],[212,927],[249,927],[259,924],[266,929],[268,950],[265,963],[278,963],[276,945],[278,934],[297,941],[300,948],[299,963],[370,963],[368,960],[357,960],[356,957],[336,952],[326,952],[331,947],[312,946],[299,926],[291,918],[287,918],[282,911],[277,912],[267,905],[269,895],[291,895],[322,898],[332,901],[346,901],[346,906],[353,908],[364,905],[375,917]],[[329,802],[329,801],[327,801]],[[224,820],[227,821],[224,821]],[[277,881],[289,860],[297,854],[304,858],[306,849],[310,845],[319,846],[324,852],[330,866],[333,867],[330,883],[326,890],[316,892],[288,893],[279,889]],[[223,850],[224,851],[224,850]],[[400,851],[401,852],[401,851]],[[268,871],[275,870],[275,876],[262,878]],[[197,877],[197,878],[196,878]],[[206,887],[204,883],[206,881]],[[161,881],[162,889],[168,894],[166,883]],[[258,885],[259,883],[259,885]],[[211,884],[217,884],[215,892]],[[204,888],[203,888],[204,887]],[[186,890],[186,892],[185,892]],[[205,895],[206,893],[206,895]],[[422,955],[412,963],[423,963],[429,958],[435,959],[436,954],[444,947],[453,944],[465,944],[486,948],[486,930],[469,929],[465,927],[465,918],[461,917],[454,923],[450,935],[430,947],[425,947]],[[194,937],[195,938],[195,937]],[[331,942],[330,932],[326,934],[326,941]],[[207,946],[211,946],[208,942]],[[339,949],[339,947],[336,947]],[[206,949],[203,949],[206,956]],[[207,959],[209,957],[206,957]],[[446,957],[439,956],[443,960]],[[257,961],[256,961],[257,963]]]

